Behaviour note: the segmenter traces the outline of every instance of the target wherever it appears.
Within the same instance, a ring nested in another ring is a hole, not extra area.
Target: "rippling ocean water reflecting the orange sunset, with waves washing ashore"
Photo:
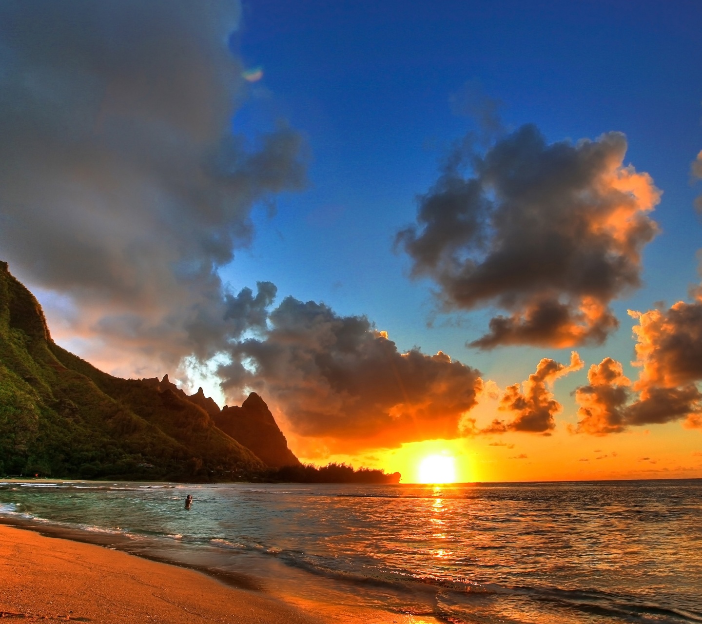
[[[377,611],[390,622],[702,623],[700,479],[0,482],[0,519],[326,605],[340,622]]]

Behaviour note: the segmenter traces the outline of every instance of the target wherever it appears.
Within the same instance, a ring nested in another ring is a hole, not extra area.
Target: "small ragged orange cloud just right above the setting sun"
[[[568,365],[543,358],[536,366],[536,373],[529,375],[529,379],[505,388],[498,409],[510,413],[512,420],[505,423],[495,419],[484,432],[550,432],[556,426],[553,417],[562,410],[562,405],[556,401],[549,388],[558,378],[581,368],[583,361],[575,351],[571,353]]]

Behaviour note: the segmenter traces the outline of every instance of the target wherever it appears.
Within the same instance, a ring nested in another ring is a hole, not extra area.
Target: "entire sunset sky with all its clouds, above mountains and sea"
[[[0,255],[62,346],[255,390],[305,461],[702,477],[700,18],[0,2]]]

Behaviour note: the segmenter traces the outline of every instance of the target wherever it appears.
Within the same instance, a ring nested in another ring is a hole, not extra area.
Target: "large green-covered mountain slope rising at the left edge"
[[[265,468],[169,384],[113,377],[58,346],[0,263],[0,474],[211,480]]]

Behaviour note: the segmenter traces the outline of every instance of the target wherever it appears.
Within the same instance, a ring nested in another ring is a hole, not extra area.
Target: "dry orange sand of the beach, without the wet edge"
[[[11,526],[0,526],[0,617],[105,624],[324,621],[197,571]]]

